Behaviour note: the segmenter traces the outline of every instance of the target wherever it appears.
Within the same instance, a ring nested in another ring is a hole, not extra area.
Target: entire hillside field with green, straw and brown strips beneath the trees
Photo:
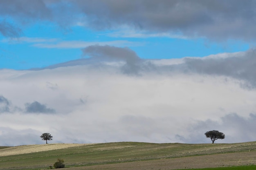
[[[246,166],[243,168],[246,170],[253,167],[249,165],[256,165],[256,142],[117,142],[0,147],[0,170],[45,170],[58,158],[64,159],[67,170],[174,170],[229,166]]]

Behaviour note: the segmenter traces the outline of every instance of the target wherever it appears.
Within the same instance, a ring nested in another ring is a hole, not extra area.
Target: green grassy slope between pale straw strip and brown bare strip
[[[116,142],[78,145],[63,149],[60,147],[64,146],[63,144],[37,146],[39,148],[45,146],[54,147],[52,150],[1,156],[0,170],[49,169],[49,166],[52,166],[58,158],[64,159],[67,167],[83,167],[193,157],[198,155],[216,155],[220,153],[249,152],[255,150],[256,142],[239,144],[153,144]],[[0,154],[3,151],[8,153],[9,150],[16,150],[17,153],[20,153],[22,150],[28,150],[29,148],[31,148],[31,146],[0,147]]]

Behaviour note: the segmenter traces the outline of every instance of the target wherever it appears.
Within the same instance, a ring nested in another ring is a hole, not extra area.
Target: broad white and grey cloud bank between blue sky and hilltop
[[[256,140],[255,49],[180,60],[113,46],[83,53],[51,69],[0,70],[0,146],[41,144],[44,132],[54,143],[210,143],[208,130],[225,133],[217,143]]]

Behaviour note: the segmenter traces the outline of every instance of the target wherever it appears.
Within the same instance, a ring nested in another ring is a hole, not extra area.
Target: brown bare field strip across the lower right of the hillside
[[[65,168],[65,170],[175,170],[256,164],[256,151]]]

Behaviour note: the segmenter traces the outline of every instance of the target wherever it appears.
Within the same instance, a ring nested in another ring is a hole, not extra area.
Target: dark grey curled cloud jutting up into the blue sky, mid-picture
[[[127,74],[137,74],[139,70],[139,57],[131,49],[115,46],[88,46],[82,50],[84,56],[90,56],[98,59],[108,59],[119,61],[123,60],[126,64],[122,67],[122,71]]]

